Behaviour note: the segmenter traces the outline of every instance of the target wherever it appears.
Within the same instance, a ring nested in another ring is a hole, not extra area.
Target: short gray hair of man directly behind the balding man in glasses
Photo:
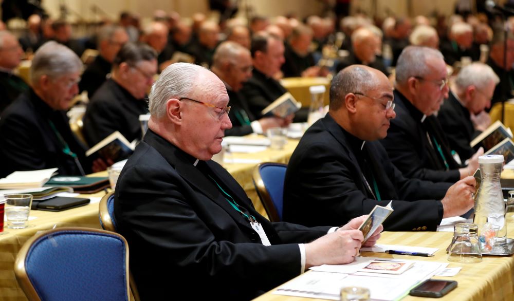
[[[429,58],[444,60],[443,54],[437,49],[422,46],[407,46],[401,51],[396,63],[396,82],[407,83],[411,77],[425,77],[430,73],[427,65]]]

